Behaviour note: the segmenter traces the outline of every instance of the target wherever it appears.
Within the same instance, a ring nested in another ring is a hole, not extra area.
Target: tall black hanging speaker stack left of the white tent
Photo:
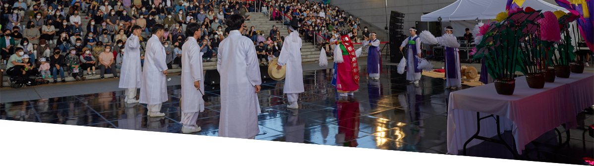
[[[400,53],[400,44],[406,39],[405,31],[403,31],[405,23],[405,14],[402,12],[392,11],[390,14],[390,62],[400,63],[400,59],[404,55]]]

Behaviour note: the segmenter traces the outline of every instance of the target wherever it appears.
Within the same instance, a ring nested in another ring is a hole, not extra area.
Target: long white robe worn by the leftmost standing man
[[[132,34],[124,46],[124,58],[120,70],[119,88],[140,88],[142,76],[140,65],[140,41]]]

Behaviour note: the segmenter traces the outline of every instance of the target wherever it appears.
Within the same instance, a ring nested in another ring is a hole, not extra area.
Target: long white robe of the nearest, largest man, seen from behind
[[[252,138],[260,133],[260,103],[255,85],[262,83],[256,49],[238,30],[219,44],[217,71],[220,74],[219,137],[223,141]]]

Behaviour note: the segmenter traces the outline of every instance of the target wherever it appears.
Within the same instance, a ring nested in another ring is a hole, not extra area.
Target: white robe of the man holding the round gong
[[[279,55],[279,66],[287,68],[285,76],[285,87],[283,92],[286,94],[301,93],[305,89],[303,87],[303,68],[301,67],[301,38],[296,38],[297,41],[292,41],[293,35],[299,35],[292,32],[285,39],[283,49]],[[273,69],[276,70],[276,69]]]

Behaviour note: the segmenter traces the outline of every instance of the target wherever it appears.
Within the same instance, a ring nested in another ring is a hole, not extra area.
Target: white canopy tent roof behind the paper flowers
[[[445,8],[421,16],[421,21],[438,21],[441,17],[443,26],[451,25],[454,28],[454,36],[463,36],[465,28],[474,28],[475,20],[491,20],[497,14],[505,11],[507,0],[458,0]],[[565,8],[558,7],[542,0],[526,0],[522,7],[530,7],[542,11],[564,11]]]

